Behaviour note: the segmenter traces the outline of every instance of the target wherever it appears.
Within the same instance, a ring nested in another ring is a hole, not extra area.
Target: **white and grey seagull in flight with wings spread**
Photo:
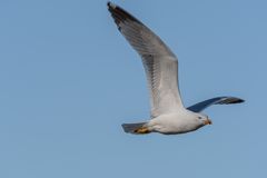
[[[211,125],[208,116],[201,113],[207,107],[244,102],[236,97],[216,97],[185,108],[179,93],[175,53],[132,14],[110,1],[107,6],[121,34],[141,57],[150,91],[150,119],[122,123],[125,132],[178,135],[195,131]]]

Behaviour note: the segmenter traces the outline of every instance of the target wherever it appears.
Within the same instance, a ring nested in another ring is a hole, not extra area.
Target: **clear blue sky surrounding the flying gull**
[[[106,0],[0,1],[0,177],[266,177],[267,2],[116,0],[179,58],[186,106],[214,125],[127,135],[149,118],[145,72]]]

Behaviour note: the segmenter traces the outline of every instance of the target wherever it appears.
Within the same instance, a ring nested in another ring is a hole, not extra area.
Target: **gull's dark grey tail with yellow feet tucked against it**
[[[148,129],[147,122],[139,122],[139,123],[122,123],[121,125],[125,132],[134,134],[134,135],[145,135],[151,132]]]

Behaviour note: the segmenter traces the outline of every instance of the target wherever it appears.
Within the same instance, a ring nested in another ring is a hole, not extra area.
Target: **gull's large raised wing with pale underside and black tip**
[[[142,59],[150,90],[151,118],[182,107],[176,56],[157,34],[122,8],[108,2],[108,9],[119,31]]]

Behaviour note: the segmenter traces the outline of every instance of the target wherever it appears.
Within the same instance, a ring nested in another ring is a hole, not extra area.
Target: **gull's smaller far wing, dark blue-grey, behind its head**
[[[212,99],[208,99],[201,102],[198,102],[194,106],[188,107],[188,110],[191,110],[194,112],[200,112],[207,107],[211,105],[229,105],[229,103],[240,103],[244,102],[245,100],[236,97],[217,97]]]

